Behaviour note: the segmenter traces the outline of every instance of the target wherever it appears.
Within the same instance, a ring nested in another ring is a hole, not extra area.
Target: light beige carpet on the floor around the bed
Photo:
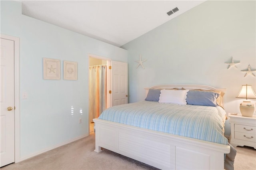
[[[70,144],[50,150],[33,158],[2,167],[2,170],[157,170],[104,149],[94,152],[95,136],[92,133]],[[236,147],[235,170],[256,170],[256,150]]]

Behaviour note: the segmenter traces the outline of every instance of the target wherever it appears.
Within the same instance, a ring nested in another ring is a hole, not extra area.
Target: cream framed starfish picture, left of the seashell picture
[[[43,71],[45,80],[60,80],[60,60],[43,58]]]

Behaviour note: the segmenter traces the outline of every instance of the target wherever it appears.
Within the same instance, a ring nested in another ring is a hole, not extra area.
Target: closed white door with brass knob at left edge
[[[0,166],[14,162],[14,41],[1,38]]]

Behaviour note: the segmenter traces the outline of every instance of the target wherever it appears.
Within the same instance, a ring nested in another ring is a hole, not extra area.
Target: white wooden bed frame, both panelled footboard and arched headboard
[[[146,89],[204,89],[206,85],[157,85]],[[160,169],[224,169],[224,153],[230,146],[157,132],[130,125],[93,119],[95,152],[101,147]]]

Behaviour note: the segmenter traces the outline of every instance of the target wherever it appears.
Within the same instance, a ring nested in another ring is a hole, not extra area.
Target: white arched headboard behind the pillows
[[[188,85],[188,84],[180,84],[180,85],[176,85],[176,84],[167,84],[167,85],[155,85],[153,87],[146,87],[144,88],[146,91],[146,97],[148,95],[148,90],[149,89],[172,89],[172,88],[184,88],[186,90],[192,90],[192,89],[202,89],[202,90],[216,90],[216,91],[222,91],[222,92],[226,92],[226,89],[217,89],[215,87],[211,87],[208,85]],[[224,99],[223,99],[224,100]],[[224,102],[224,101],[222,101]]]

